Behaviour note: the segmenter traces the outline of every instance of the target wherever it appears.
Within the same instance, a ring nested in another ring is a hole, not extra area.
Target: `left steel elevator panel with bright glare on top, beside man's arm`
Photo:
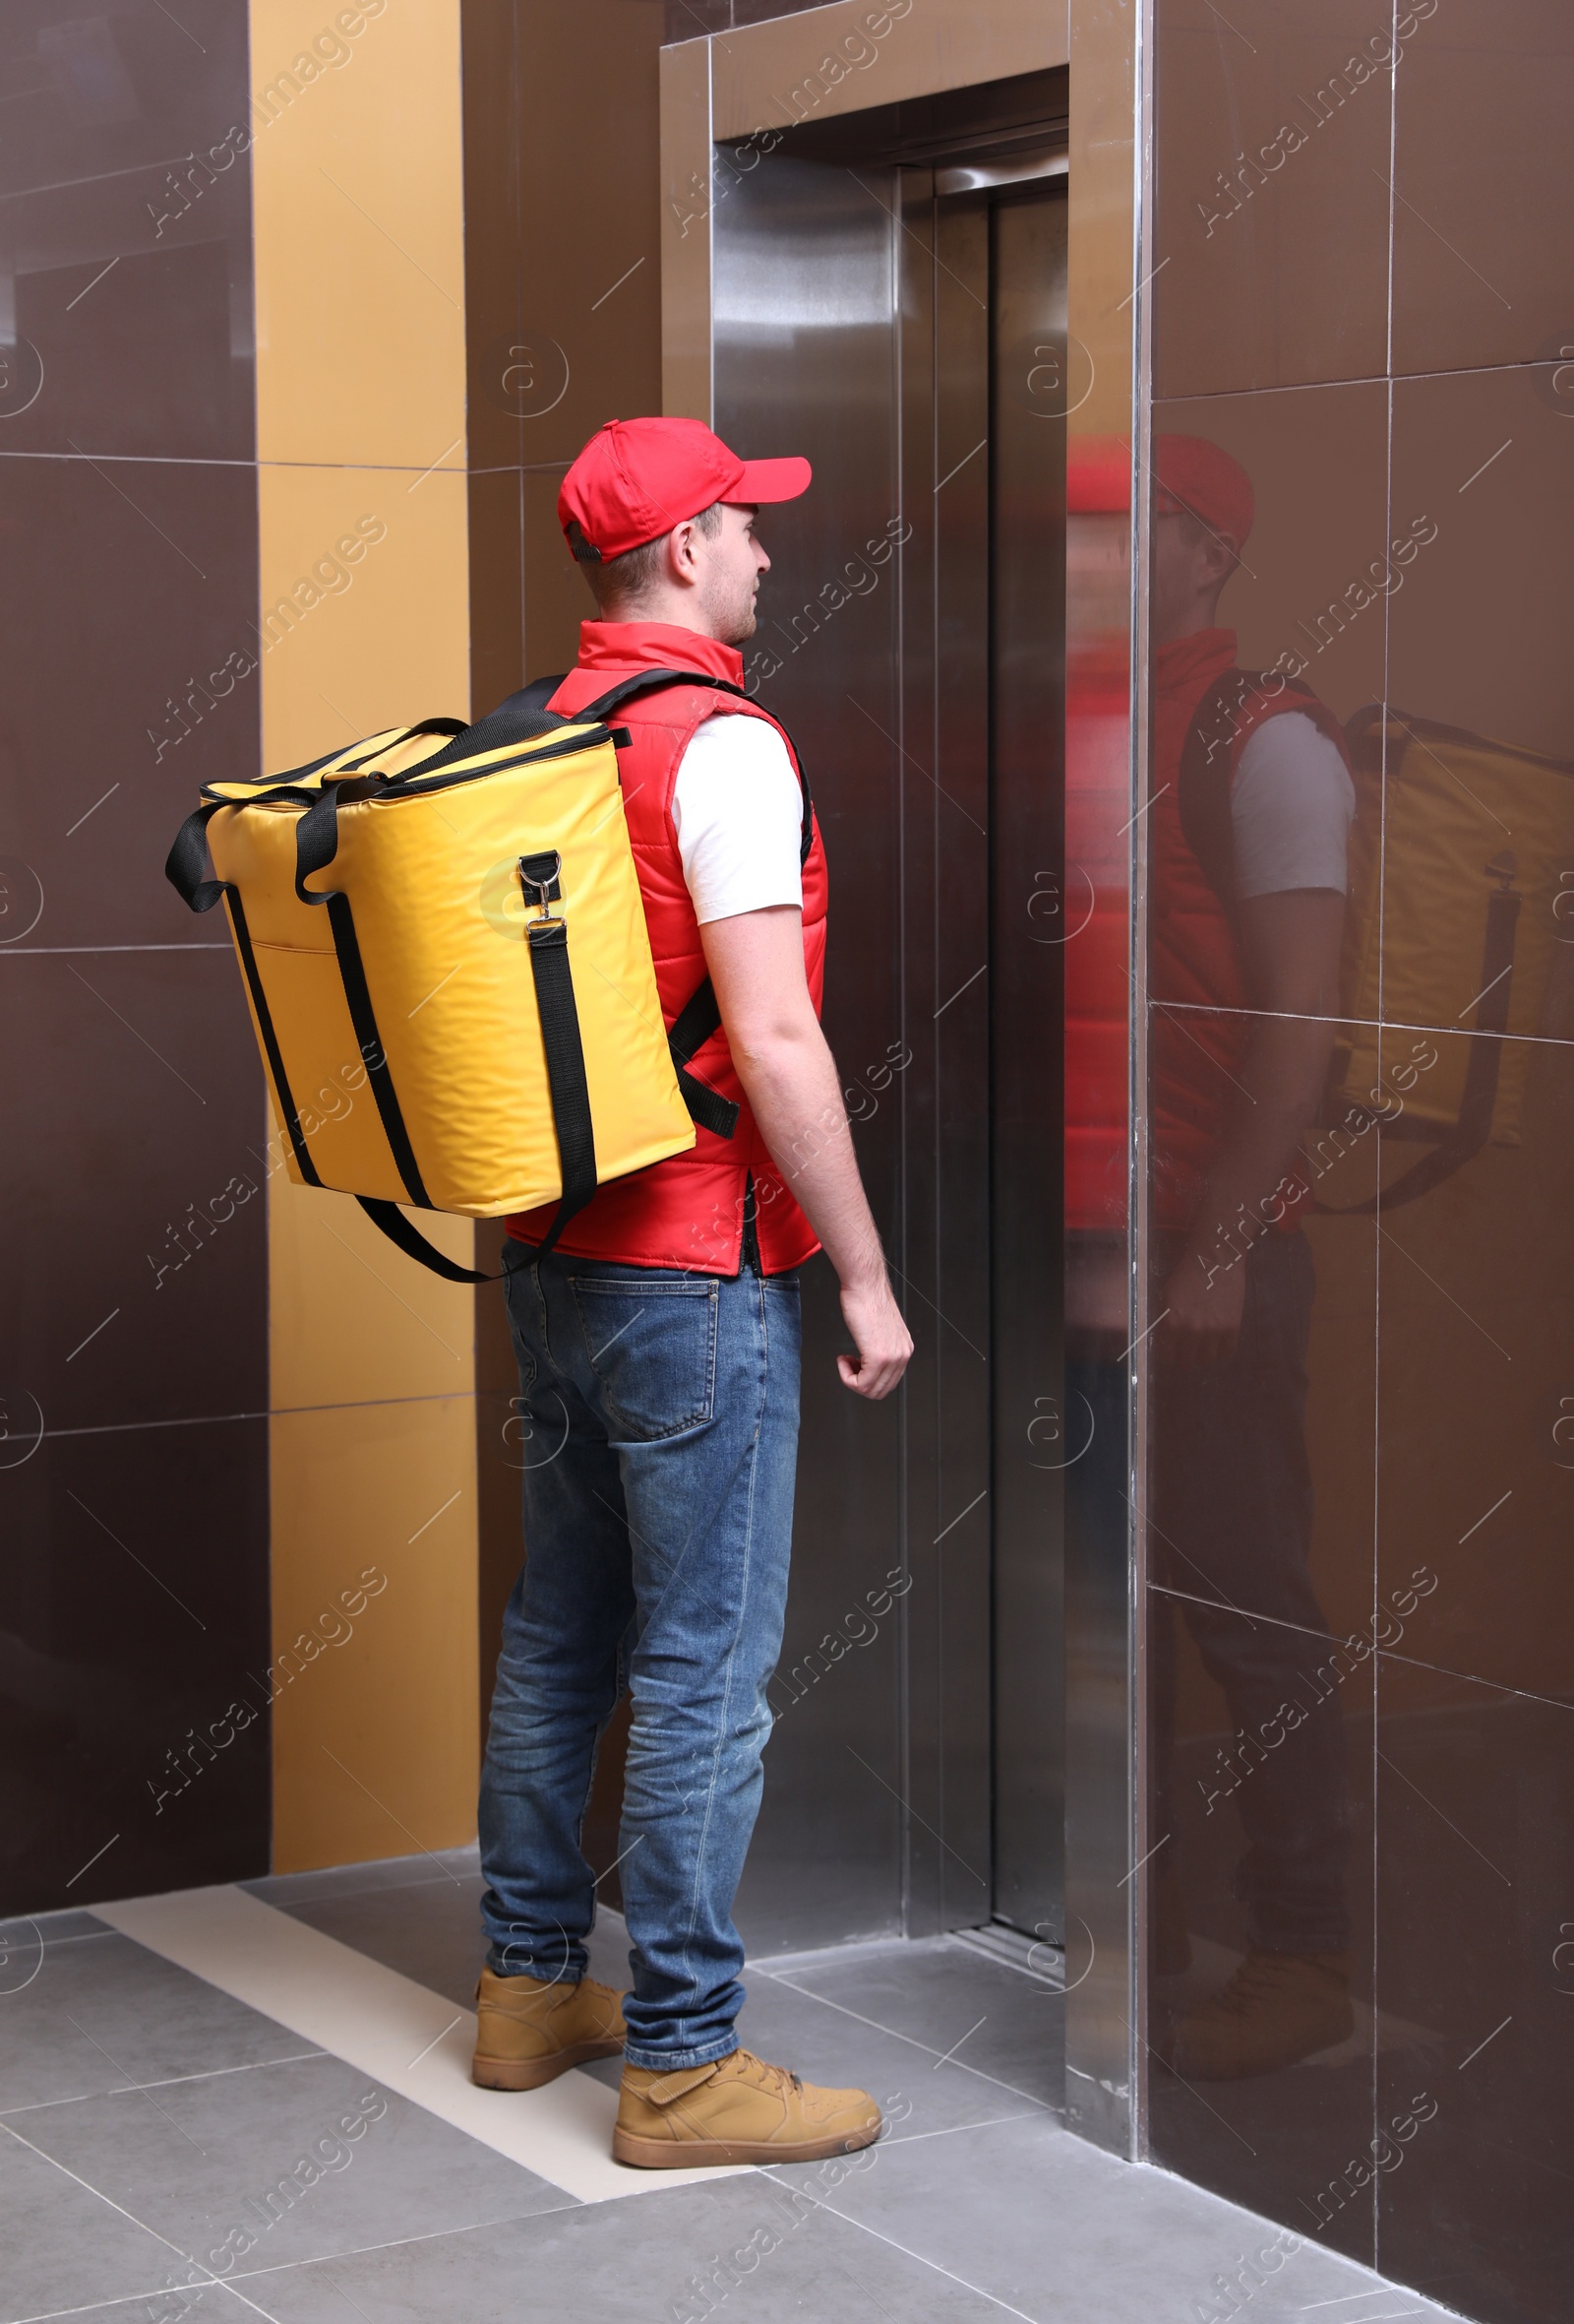
[[[831,865],[826,1032],[880,1232],[901,1239],[901,479],[894,225],[847,170],[771,153],[717,172],[715,425],[745,456],[808,453],[813,490],[761,511],[773,569],[748,686],[792,732]],[[889,172],[887,172],[889,179]],[[891,1055],[894,1053],[894,1055]],[[803,1436],[778,1724],[738,1924],[754,1950],[903,1924],[903,1404],[836,1373],[824,1262],[803,1276]]]

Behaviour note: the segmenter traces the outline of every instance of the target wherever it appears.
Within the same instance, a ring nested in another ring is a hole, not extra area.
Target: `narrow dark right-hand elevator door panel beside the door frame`
[[[994,1910],[1063,1941],[1066,195],[991,209]]]

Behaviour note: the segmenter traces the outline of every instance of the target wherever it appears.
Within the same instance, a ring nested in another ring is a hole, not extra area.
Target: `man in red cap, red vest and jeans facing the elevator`
[[[801,853],[789,741],[741,693],[771,569],[761,502],[808,460],[738,460],[699,421],[611,421],[564,476],[564,535],[597,595],[553,709],[622,679],[699,683],[615,713],[622,802],[671,1027],[720,1004],[689,1071],[736,1102],[731,1139],[608,1183],[539,1246],[508,1220],[508,1318],[529,1448],[527,1564],[508,1601],[481,1787],[488,1968],[476,2080],[529,2089],[624,2052],[613,2152],[643,2166],[806,2161],[868,2145],[861,2089],[815,2089],[738,2047],[731,1903],[759,1808],[766,1683],[787,1597],[799,1434],[799,1278],[840,1278],[859,1397],[912,1341],[859,1183],[820,1032],[826,871]],[[634,1989],[585,1978],[594,1880],[580,1827],[594,1755],[631,1694],[620,1864]]]

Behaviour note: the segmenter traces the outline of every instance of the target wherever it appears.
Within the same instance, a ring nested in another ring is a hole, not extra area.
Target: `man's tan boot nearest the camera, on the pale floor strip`
[[[813,2164],[852,2154],[880,2136],[864,2089],[817,2089],[748,2050],[713,2066],[652,2073],[622,2068],[613,2157],[643,2171],[692,2164]]]

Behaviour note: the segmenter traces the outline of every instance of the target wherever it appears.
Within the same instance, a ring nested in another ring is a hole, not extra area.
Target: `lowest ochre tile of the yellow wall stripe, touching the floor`
[[[274,1868],[455,1848],[476,1831],[471,1401],[274,1413],[272,1448]]]

